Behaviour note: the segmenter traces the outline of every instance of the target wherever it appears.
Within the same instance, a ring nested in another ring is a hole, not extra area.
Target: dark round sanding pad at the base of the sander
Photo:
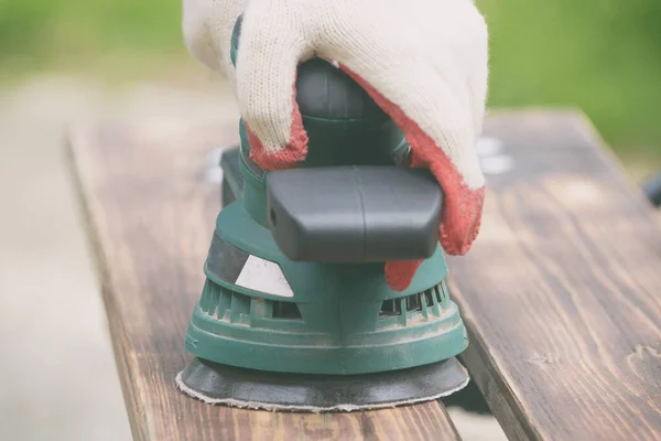
[[[432,401],[463,389],[468,380],[468,373],[454,357],[361,375],[280,374],[196,358],[177,375],[176,385],[209,405],[318,413]]]

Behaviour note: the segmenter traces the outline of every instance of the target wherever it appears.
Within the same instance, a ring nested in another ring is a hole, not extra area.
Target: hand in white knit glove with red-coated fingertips
[[[241,13],[235,69],[230,37]],[[475,144],[488,73],[487,28],[472,0],[184,0],[184,35],[194,56],[231,78],[252,159],[266,170],[293,168],[307,152],[297,64],[334,62],[402,129],[411,165],[438,180],[444,250],[468,251],[485,197]],[[388,283],[404,290],[421,262],[388,262]]]

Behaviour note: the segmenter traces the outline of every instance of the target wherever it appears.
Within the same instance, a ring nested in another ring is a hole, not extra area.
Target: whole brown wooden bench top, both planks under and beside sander
[[[659,218],[577,114],[496,112],[485,137],[483,233],[449,259],[473,379],[510,439],[661,439]],[[458,439],[436,402],[271,413],[175,388],[220,207],[208,154],[237,138],[235,121],[71,136],[134,438]]]

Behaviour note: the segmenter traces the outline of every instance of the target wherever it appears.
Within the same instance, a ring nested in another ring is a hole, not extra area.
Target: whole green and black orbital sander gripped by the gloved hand
[[[240,19],[232,35],[236,60]],[[223,209],[176,378],[207,404],[351,411],[434,400],[468,383],[466,329],[438,245],[443,190],[407,166],[394,122],[348,75],[313,58],[296,100],[308,153],[264,171],[223,154]],[[383,262],[425,259],[404,291]]]

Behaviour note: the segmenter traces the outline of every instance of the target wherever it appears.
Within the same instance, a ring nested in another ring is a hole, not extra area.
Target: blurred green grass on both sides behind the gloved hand
[[[582,108],[620,157],[661,166],[661,0],[478,0],[490,106]],[[191,64],[181,0],[0,0],[4,84],[44,71],[113,79]]]

